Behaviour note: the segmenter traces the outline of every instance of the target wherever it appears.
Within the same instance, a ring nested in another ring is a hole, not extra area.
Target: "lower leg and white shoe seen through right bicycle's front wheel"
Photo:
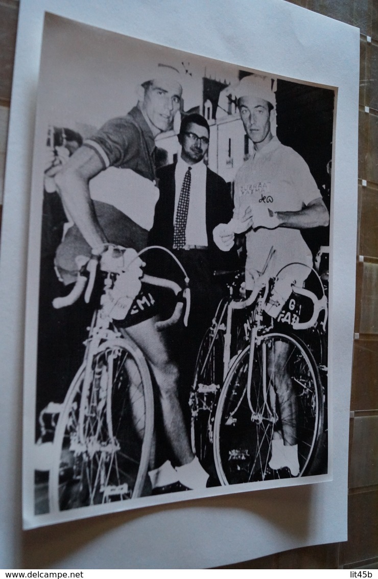
[[[299,474],[297,413],[298,405],[291,376],[288,372],[290,345],[276,340],[268,354],[268,373],[277,394],[280,408],[282,438],[276,433],[272,444],[271,468],[288,467],[292,475]]]

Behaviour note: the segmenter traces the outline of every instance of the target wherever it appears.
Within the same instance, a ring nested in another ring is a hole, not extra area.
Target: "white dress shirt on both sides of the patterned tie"
[[[188,170],[188,163],[179,157],[175,168],[175,212],[174,223],[178,200],[181,193],[182,182]],[[203,162],[191,165],[192,170],[190,181],[188,220],[186,221],[185,241],[187,245],[207,246],[206,232],[206,166]]]

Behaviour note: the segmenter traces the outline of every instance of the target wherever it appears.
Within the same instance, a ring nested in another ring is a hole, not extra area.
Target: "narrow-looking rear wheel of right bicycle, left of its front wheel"
[[[212,439],[215,405],[223,384],[223,347],[223,332],[209,328],[200,345],[189,400],[192,450],[207,471],[215,471]]]

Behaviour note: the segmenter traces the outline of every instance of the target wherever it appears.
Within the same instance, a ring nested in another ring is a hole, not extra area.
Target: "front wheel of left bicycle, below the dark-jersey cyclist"
[[[50,512],[134,499],[144,489],[154,408],[141,350],[130,339],[108,340],[94,354],[90,379],[85,372],[84,363],[58,419]]]

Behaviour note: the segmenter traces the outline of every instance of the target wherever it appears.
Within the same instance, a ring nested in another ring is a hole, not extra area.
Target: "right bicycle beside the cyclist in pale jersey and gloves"
[[[298,264],[287,268],[292,265]],[[292,294],[277,317],[281,324],[277,323],[267,310],[274,301],[277,280],[284,278],[287,268],[276,278],[256,284],[247,299],[235,297],[232,288],[230,297],[219,303],[199,350],[190,395],[192,446],[212,479],[221,485],[291,476],[288,469],[280,472],[269,468],[271,443],[281,429],[274,389],[275,361],[271,360],[278,342],[287,345],[287,369],[298,402],[298,476],[320,474],[322,469],[325,390],[319,369],[325,373],[326,368],[317,347],[315,362],[306,344],[306,331],[325,335],[327,300],[320,278],[311,270],[320,283],[321,297],[297,287],[293,280]],[[299,296],[304,296],[313,309],[304,322],[299,317]],[[285,317],[290,318],[291,332],[282,323]]]

